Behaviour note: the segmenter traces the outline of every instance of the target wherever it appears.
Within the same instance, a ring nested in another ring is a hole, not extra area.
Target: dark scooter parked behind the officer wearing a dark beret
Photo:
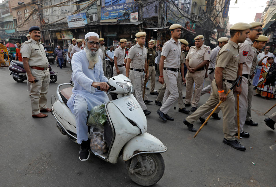
[[[58,80],[56,72],[52,70],[52,67],[49,64],[50,70],[50,83],[55,83]],[[12,78],[19,83],[27,80],[26,71],[23,66],[23,62],[12,60],[11,65],[8,67],[8,70],[11,72]]]

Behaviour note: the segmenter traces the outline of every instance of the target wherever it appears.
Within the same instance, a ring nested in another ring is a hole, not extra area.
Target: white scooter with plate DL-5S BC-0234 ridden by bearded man
[[[104,140],[109,150],[97,157],[117,163],[121,155],[128,175],[136,184],[153,185],[163,176],[165,164],[160,153],[167,151],[167,147],[146,133],[146,116],[132,94],[134,87],[130,79],[120,74],[110,78],[108,83],[110,88],[107,94],[111,94],[112,101],[105,104],[107,122],[104,125]],[[63,85],[71,87],[60,91]],[[52,114],[60,132],[77,142],[75,116],[66,105],[72,95],[72,86],[70,83],[58,85]]]

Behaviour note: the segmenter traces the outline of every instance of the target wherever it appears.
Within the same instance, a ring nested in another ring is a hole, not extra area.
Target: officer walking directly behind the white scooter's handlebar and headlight
[[[147,67],[147,50],[144,46],[146,41],[146,33],[138,32],[136,33],[137,44],[133,45],[128,51],[127,63],[126,63],[126,77],[132,81],[132,84],[135,89],[135,95],[138,103],[142,107],[145,115],[149,115],[151,111],[147,110],[146,104],[152,102],[148,99],[148,96],[145,92],[144,100],[142,97],[144,90],[144,79],[143,72],[146,71]],[[129,75],[130,72],[130,75]],[[145,75],[145,79],[149,76]]]

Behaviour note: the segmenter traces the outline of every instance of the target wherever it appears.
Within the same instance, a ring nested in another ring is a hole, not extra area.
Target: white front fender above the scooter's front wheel
[[[167,147],[155,136],[144,133],[129,140],[123,147],[122,158],[127,161],[137,154],[162,153]]]

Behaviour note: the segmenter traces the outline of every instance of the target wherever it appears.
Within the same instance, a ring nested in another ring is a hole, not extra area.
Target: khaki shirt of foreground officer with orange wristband
[[[216,67],[224,68],[222,79],[236,80],[239,67],[239,45],[237,43],[229,40],[220,49],[216,60]]]

